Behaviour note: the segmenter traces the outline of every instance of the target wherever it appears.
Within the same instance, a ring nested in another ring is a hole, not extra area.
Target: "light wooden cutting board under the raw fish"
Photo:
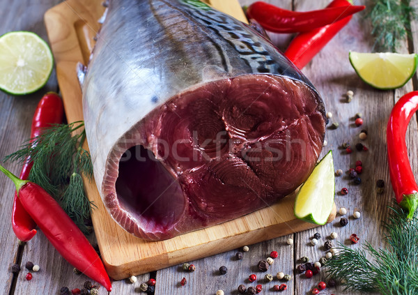
[[[207,0],[242,18],[238,0]],[[232,5],[232,2],[236,5]],[[83,120],[82,92],[76,75],[78,62],[85,65],[94,46],[94,36],[104,12],[102,0],[68,0],[45,13],[49,42],[54,53],[56,74],[63,96],[68,122]],[[317,227],[297,220],[293,215],[295,195],[269,208],[261,209],[221,225],[183,234],[167,241],[144,241],[125,232],[104,208],[95,183],[86,183],[88,198],[98,206],[92,213],[102,260],[111,278],[121,280],[130,275],[148,273],[183,262],[226,252],[242,245],[274,239]],[[335,218],[336,210],[330,215]]]

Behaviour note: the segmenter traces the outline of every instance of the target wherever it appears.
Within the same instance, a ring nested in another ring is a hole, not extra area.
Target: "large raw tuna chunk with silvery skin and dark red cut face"
[[[104,205],[143,239],[277,202],[307,179],[325,135],[311,82],[196,0],[111,0],[82,90]]]

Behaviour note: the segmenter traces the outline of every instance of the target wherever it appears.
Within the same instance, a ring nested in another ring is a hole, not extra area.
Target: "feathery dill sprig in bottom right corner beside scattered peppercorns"
[[[340,245],[341,252],[327,261],[328,277],[339,280],[344,290],[418,294],[418,218],[408,220],[396,203],[389,210],[383,223],[386,248],[368,242],[357,250]]]

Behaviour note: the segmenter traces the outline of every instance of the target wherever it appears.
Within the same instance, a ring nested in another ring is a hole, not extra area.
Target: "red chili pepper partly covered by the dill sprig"
[[[38,107],[36,107],[35,114],[33,115],[31,140],[40,135],[43,128],[54,123],[61,123],[63,121],[63,114],[64,107],[61,97],[54,92],[45,94],[38,103]],[[33,162],[31,162],[31,159],[27,158],[20,172],[20,179],[28,179],[32,165]],[[22,204],[20,204],[16,192],[12,210],[12,227],[13,232],[15,232],[17,239],[20,239],[20,241],[27,242],[36,234],[36,223],[24,210]]]

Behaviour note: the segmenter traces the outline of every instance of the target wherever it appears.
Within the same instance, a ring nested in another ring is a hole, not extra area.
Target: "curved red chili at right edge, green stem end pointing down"
[[[408,211],[409,219],[414,216],[418,206],[418,186],[408,159],[405,134],[417,109],[418,91],[402,96],[390,113],[386,133],[390,180],[396,202]]]

